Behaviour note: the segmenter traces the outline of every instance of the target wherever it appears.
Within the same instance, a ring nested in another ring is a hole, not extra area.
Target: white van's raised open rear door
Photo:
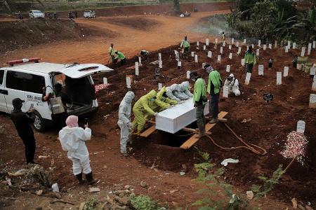
[[[65,69],[61,69],[60,73],[63,73],[70,78],[83,78],[84,76],[88,76],[94,73],[110,71],[113,71],[113,69],[110,69],[109,67],[102,64],[77,64],[65,67]]]

